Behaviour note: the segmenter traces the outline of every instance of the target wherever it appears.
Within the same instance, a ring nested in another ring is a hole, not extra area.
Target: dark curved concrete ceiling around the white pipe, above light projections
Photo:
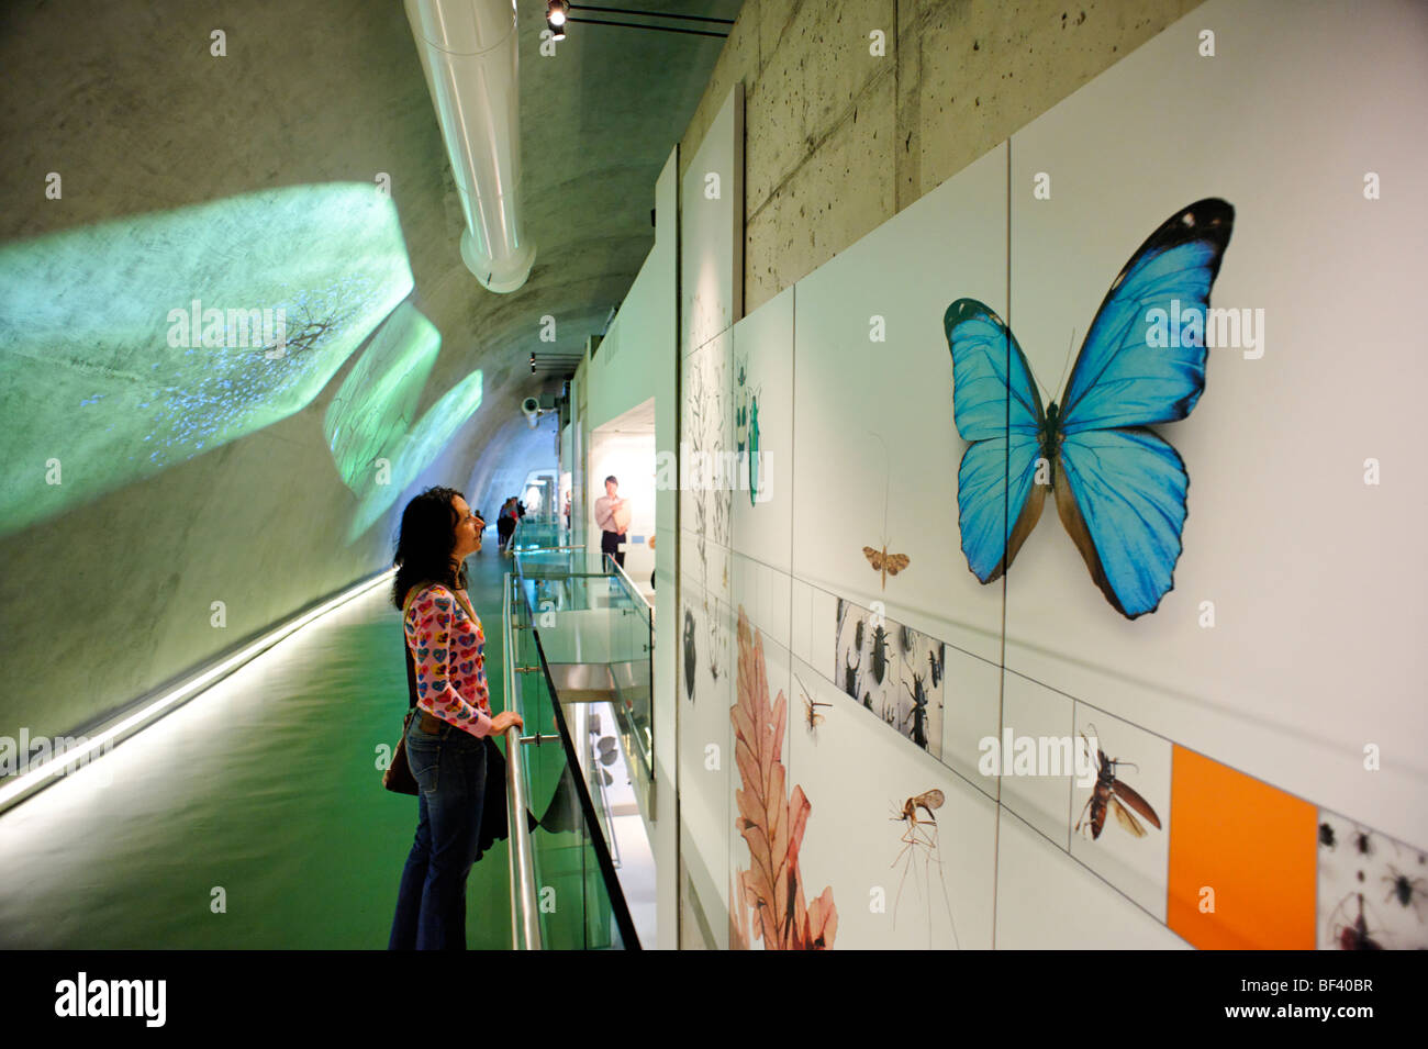
[[[740,3],[638,7],[733,19]],[[520,401],[557,382],[530,373],[530,353],[580,353],[638,273],[655,177],[723,47],[577,24],[541,57],[545,6],[518,9],[523,200],[538,255],[514,294],[486,291],[461,263],[457,194],[398,0],[4,4],[0,241],[386,171],[414,301],[443,335],[420,410],[483,368],[484,402],[447,461],[484,472]],[[208,53],[214,29],[227,57]],[[50,171],[63,200],[44,197]],[[554,344],[538,340],[544,314]]]

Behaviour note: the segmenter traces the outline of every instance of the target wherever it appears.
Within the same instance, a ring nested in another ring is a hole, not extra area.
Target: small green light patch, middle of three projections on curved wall
[[[440,350],[441,333],[403,303],[383,321],[327,405],[323,432],[337,472],[358,495],[371,488],[377,460],[394,460]]]

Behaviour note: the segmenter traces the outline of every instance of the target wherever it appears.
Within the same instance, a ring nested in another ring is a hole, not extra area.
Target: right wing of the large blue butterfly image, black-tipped
[[[1165,220],[1111,284],[1067,381],[1057,511],[1130,619],[1174,585],[1190,488],[1175,450],[1141,427],[1185,418],[1204,392],[1205,310],[1232,225],[1234,208],[1214,198]],[[1178,345],[1161,344],[1157,310],[1184,321]]]

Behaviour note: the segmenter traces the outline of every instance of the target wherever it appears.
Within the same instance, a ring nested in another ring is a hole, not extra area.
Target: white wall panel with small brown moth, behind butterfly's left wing
[[[942,314],[958,288],[1005,310],[1005,147],[794,287],[793,571],[1000,659],[1001,594],[967,572],[955,539]],[[873,561],[885,555],[905,568],[884,574]]]

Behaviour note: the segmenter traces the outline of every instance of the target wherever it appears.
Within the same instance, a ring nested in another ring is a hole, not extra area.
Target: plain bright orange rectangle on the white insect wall
[[[1317,812],[1175,746],[1165,923],[1202,949],[1312,951]]]

